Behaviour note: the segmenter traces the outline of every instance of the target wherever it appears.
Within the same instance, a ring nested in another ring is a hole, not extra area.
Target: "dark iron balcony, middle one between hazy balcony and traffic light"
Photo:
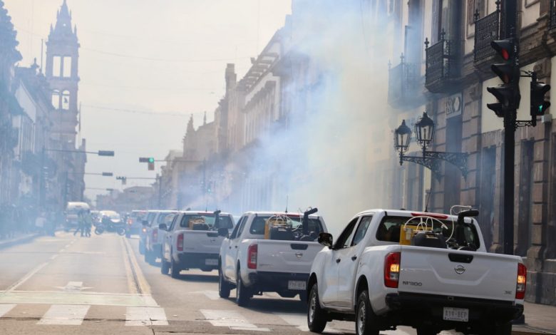
[[[459,78],[458,52],[454,41],[445,39],[442,31],[441,40],[428,46],[425,41],[426,75],[425,87],[432,93],[454,91]]]

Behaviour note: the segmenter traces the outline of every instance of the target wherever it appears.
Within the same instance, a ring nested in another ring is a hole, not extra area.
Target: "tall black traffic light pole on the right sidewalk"
[[[519,68],[519,36],[515,34],[518,26],[518,0],[504,1],[504,12],[504,37],[514,37],[515,62]],[[515,85],[518,86],[519,83],[515,83]],[[517,113],[518,111],[513,109],[511,113],[504,115],[504,254],[513,254],[515,121]]]

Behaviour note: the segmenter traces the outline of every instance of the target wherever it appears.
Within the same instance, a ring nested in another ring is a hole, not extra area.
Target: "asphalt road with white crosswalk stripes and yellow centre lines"
[[[217,289],[217,272],[160,274],[137,237],[58,232],[0,250],[0,334],[309,334],[299,299],[265,294],[242,308]],[[354,327],[334,321],[325,333]]]

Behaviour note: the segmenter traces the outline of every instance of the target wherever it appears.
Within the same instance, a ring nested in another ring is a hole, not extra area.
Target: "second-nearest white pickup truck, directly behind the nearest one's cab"
[[[218,291],[248,304],[254,294],[277,292],[281,297],[307,297],[306,287],[314,257],[322,249],[316,242],[326,226],[321,217],[305,213],[247,212],[229,238],[222,242],[218,259]]]

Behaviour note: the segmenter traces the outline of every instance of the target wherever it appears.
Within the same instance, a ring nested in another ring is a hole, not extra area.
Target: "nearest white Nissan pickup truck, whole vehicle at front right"
[[[368,210],[332,243],[321,234],[307,284],[307,324],[356,321],[356,334],[396,326],[417,334],[511,334],[523,312],[527,270],[521,257],[486,251],[476,210],[442,215]]]

